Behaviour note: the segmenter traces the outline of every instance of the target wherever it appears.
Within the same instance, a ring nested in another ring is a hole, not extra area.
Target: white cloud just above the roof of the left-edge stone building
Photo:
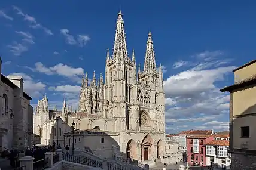
[[[10,73],[10,75],[22,76],[24,84],[23,91],[25,91],[31,97],[38,98],[41,93],[45,91],[46,85],[40,81],[35,81],[31,76],[25,73]]]

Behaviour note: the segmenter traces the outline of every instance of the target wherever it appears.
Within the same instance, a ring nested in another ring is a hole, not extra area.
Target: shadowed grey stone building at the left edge
[[[0,57],[0,72],[2,60]],[[32,146],[33,107],[20,76],[0,76],[0,151]]]

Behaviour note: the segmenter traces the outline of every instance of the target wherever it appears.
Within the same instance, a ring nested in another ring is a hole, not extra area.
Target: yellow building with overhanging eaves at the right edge
[[[230,153],[234,170],[256,169],[256,60],[233,70],[230,92]]]

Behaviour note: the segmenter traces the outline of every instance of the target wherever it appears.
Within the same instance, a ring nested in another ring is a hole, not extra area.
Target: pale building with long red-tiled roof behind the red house
[[[187,152],[187,135],[212,135],[214,132],[212,130],[189,130],[182,131],[179,135],[179,150],[181,152]]]

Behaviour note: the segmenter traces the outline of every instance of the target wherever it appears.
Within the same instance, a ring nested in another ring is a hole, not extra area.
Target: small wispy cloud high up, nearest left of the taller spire
[[[87,41],[90,40],[87,35],[77,35],[77,39],[69,33],[68,29],[60,29],[60,34],[65,36],[65,42],[69,45],[78,44],[80,47],[86,45]]]

